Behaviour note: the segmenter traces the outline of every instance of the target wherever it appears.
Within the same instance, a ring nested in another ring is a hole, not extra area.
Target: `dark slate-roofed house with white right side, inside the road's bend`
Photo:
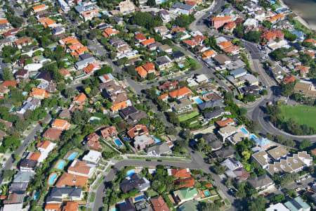
[[[140,177],[139,174],[134,173],[131,177],[126,177],[119,184],[119,188],[123,193],[127,193],[133,189],[138,189],[138,191],[147,191],[150,188],[150,181],[145,177]]]

